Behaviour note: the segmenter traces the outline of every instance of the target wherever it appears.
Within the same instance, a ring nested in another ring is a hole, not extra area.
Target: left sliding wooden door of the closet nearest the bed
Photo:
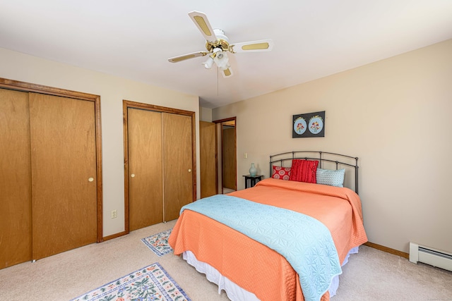
[[[127,109],[129,230],[163,221],[162,113]]]

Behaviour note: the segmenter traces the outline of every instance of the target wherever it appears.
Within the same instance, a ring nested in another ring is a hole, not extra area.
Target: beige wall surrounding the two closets
[[[199,149],[198,97],[0,48],[0,78],[100,95],[102,116],[103,235],[124,231],[124,145],[122,100],[195,111]],[[199,152],[196,152],[199,171]],[[197,193],[199,197],[199,173]],[[117,219],[110,212],[118,210]]]

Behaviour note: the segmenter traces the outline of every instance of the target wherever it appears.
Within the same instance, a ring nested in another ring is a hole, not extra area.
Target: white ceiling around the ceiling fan
[[[230,54],[231,78],[202,57],[169,63],[205,50],[190,11],[231,43],[270,38],[273,51]],[[195,94],[207,108],[451,38],[452,0],[0,0],[0,47]]]

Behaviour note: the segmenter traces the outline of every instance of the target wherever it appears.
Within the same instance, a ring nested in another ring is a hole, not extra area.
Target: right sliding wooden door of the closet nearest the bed
[[[162,113],[164,221],[179,218],[193,202],[193,147],[191,116]]]

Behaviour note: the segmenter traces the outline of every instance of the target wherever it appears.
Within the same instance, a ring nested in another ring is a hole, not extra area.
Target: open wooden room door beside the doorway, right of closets
[[[215,123],[199,122],[199,157],[201,168],[201,198],[218,193],[216,181]]]

